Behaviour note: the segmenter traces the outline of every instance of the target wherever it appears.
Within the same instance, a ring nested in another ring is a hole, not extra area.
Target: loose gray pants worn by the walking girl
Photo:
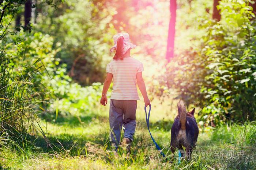
[[[118,146],[123,126],[124,138],[129,138],[132,141],[136,127],[136,109],[137,100],[110,100],[110,142],[114,142]]]

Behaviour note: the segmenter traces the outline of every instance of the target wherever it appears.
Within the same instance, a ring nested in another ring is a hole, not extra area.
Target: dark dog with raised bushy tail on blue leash
[[[198,126],[196,119],[194,117],[195,108],[192,111],[187,112],[185,104],[180,100],[177,104],[178,115],[174,119],[174,123],[171,130],[171,142],[170,149],[172,153],[178,148],[183,152],[182,157],[184,157],[184,150],[182,146],[186,148],[186,157],[191,158],[191,153],[196,147],[196,141],[198,137]],[[181,153],[182,153],[181,152]]]

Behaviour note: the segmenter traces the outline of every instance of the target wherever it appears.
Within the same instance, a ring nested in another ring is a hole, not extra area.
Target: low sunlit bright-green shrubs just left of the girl
[[[95,107],[101,97],[102,84],[93,83],[91,86],[81,87],[77,83],[72,83],[69,76],[61,72],[64,68],[59,68],[60,74],[53,75],[49,79],[47,75],[44,79],[44,86],[48,87],[47,91],[51,94],[47,112],[43,112],[48,120],[56,121],[58,115],[80,115],[97,112]]]

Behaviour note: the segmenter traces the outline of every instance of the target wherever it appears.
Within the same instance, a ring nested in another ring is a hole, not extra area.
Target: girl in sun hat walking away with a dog
[[[143,65],[139,60],[130,56],[130,49],[136,46],[130,43],[128,33],[118,33],[114,35],[113,39],[114,46],[110,48],[110,52],[116,50],[116,54],[106,67],[107,77],[100,103],[103,106],[108,103],[106,94],[113,79],[109,109],[110,142],[116,151],[123,127],[122,145],[130,153],[131,141],[136,127],[137,100],[139,100],[136,84],[138,84],[146,106],[150,104],[150,100],[142,78]]]

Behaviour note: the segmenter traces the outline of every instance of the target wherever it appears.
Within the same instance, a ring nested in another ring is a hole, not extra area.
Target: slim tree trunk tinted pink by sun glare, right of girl
[[[176,23],[176,0],[170,0],[170,22],[166,48],[166,59],[170,62],[170,59],[174,56],[174,37],[175,37],[175,23]]]

